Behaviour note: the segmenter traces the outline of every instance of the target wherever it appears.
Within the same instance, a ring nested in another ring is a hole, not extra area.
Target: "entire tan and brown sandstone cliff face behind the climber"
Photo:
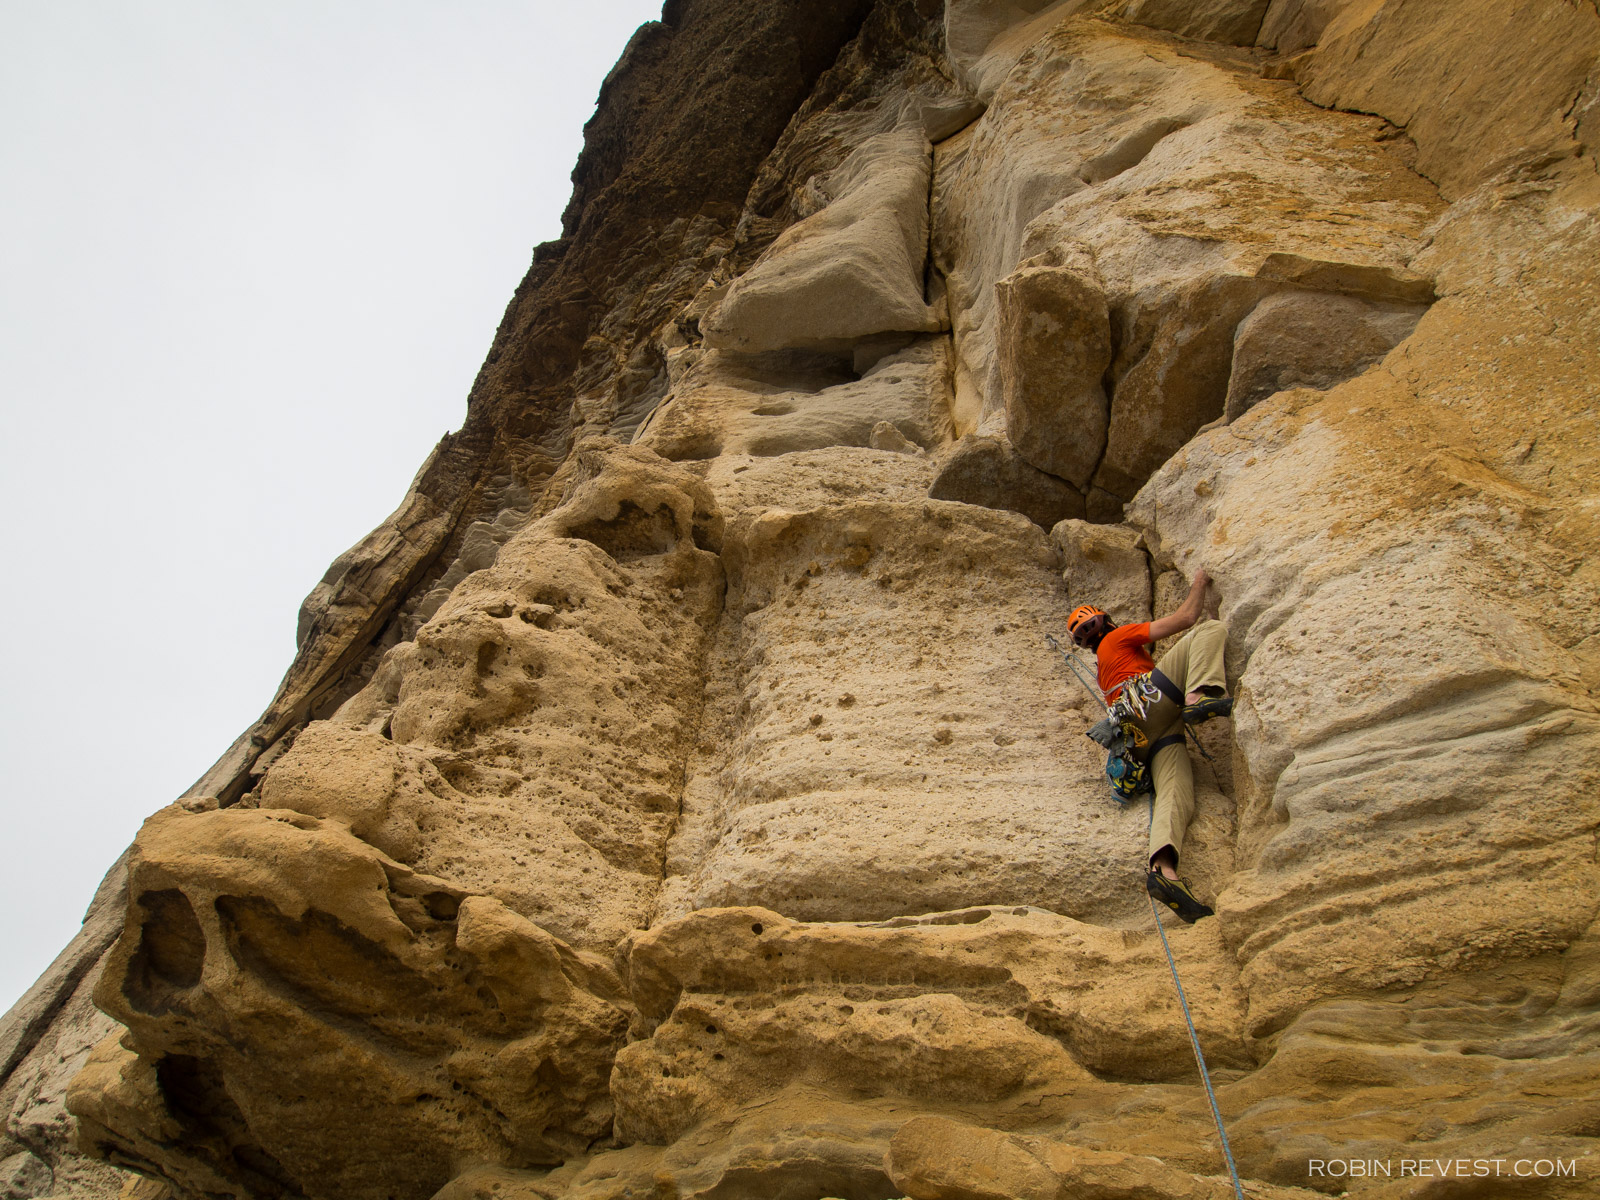
[[[1043,643],[1202,565],[1246,1190],[1600,1194],[1597,56],[670,0],[462,429],[0,1024],[0,1194],[1230,1195]]]

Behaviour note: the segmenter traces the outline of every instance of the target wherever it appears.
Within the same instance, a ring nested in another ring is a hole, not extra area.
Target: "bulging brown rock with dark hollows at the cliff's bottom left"
[[[158,813],[130,888],[94,997],[126,1048],[69,1096],[110,1160],[194,1192],[384,1197],[462,1152],[558,1162],[610,1128],[613,981],[499,901],[250,810]]]

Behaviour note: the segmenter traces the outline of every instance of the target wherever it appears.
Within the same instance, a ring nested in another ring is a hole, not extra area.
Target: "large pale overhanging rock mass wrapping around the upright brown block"
[[[1371,131],[1226,56],[1083,19],[1051,27],[934,155],[957,432],[1005,397],[994,285],[1038,256],[1086,256],[1115,350],[1094,483],[1130,498],[1222,413],[1234,330],[1282,286],[1262,274],[1274,254],[1394,272],[1421,245],[1438,200]]]

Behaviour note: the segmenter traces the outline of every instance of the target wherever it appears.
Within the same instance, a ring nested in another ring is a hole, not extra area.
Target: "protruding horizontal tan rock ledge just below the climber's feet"
[[[1227,952],[1214,930],[1182,941],[1210,1053],[1246,1061]],[[1038,909],[875,925],[706,909],[640,934],[627,973],[643,1037],[611,1077],[624,1139],[675,1141],[789,1086],[1037,1118],[1086,1102],[1104,1086],[1094,1072],[1187,1070],[1154,931]]]

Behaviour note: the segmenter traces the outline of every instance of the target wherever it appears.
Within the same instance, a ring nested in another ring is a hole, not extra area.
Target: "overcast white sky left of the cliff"
[[[0,1010],[256,718],[659,0],[0,0]]]

